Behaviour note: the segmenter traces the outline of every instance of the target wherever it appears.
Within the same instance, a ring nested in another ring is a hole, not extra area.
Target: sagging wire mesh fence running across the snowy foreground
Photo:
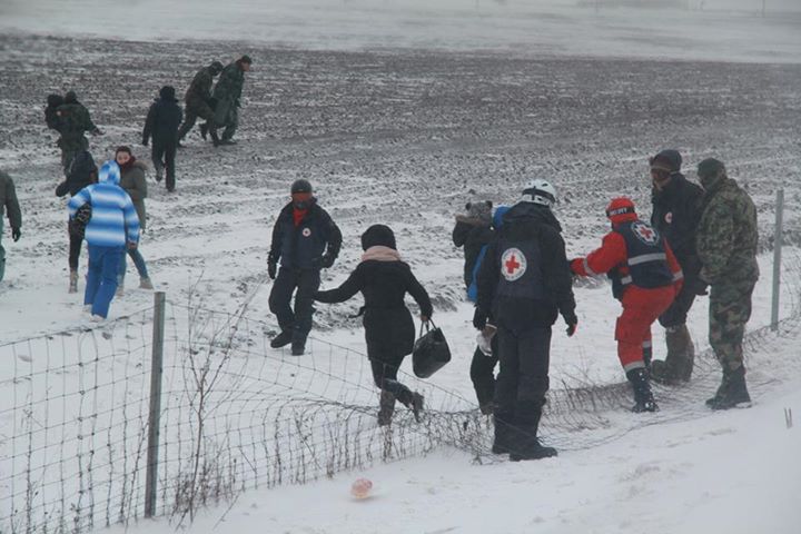
[[[774,354],[801,336],[801,258],[784,258],[790,313],[745,338],[749,386],[781,380]],[[788,276],[789,275],[789,276]],[[86,326],[0,345],[0,533],[82,533],[130,524],[147,511],[154,307],[102,328]],[[364,354],[310,338],[294,357],[269,347],[274,325],[237,313],[167,301],[155,505],[176,525],[251,488],[303,484],[441,446],[493,463],[491,418],[472,398],[412,375],[425,395],[421,423],[400,408],[377,425],[377,390]],[[769,365],[770,364],[770,365]],[[798,375],[801,362],[782,360]],[[465,378],[466,379],[466,378]],[[705,416],[720,380],[710,349],[693,379],[655,386],[662,412],[634,417],[626,384],[555,388],[542,435],[584,449],[646,425]]]

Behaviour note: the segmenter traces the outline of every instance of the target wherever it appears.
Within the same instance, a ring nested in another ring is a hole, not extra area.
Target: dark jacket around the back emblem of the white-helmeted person
[[[532,326],[551,326],[561,313],[566,323],[575,318],[573,276],[570,270],[560,226],[551,210],[532,202],[520,202],[503,217],[503,226],[495,233],[478,270],[478,301],[484,314],[497,325],[523,332]],[[544,284],[543,299],[502,297],[495,295],[501,277],[500,239],[535,240],[540,251],[540,269]]]

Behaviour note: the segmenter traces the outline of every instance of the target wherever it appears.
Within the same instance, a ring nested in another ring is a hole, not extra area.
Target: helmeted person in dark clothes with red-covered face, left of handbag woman
[[[291,343],[293,356],[304,354],[320,269],[334,265],[339,247],[342,233],[328,212],[317,205],[312,184],[296,180],[291,185],[291,202],[281,209],[273,228],[273,245],[267,257],[267,274],[275,280],[269,308],[281,329],[270,342],[273,348]],[[296,289],[293,312],[289,304]]]

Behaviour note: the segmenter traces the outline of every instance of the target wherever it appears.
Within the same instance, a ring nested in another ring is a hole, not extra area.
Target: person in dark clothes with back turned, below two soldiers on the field
[[[175,191],[175,157],[178,149],[178,127],[182,118],[184,112],[175,98],[175,89],[165,86],[159,91],[159,98],[150,105],[142,130],[142,145],[147,147],[152,137],[150,157],[156,169],[156,181],[161,181],[167,167],[167,190],[170,192]]]

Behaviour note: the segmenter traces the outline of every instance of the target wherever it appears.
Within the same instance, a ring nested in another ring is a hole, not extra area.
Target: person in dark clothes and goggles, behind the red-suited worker
[[[684,274],[684,285],[670,308],[659,318],[665,329],[668,355],[651,363],[651,378],[662,384],[688,382],[693,370],[695,347],[686,316],[696,295],[706,293],[699,278],[701,260],[695,250],[695,229],[701,220],[703,189],[681,174],[681,155],[662,150],[651,158],[653,211],[651,225],[668,239]]]

